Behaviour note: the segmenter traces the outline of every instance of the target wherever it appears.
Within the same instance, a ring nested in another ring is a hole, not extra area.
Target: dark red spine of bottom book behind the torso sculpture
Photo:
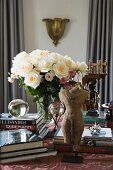
[[[58,152],[73,152],[72,145],[54,145]],[[81,146],[80,153],[113,154],[113,148]]]

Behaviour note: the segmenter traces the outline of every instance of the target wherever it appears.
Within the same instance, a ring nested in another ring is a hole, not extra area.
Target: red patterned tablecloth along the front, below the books
[[[83,154],[83,163],[61,162],[62,155],[0,165],[0,170],[113,170],[113,155]]]

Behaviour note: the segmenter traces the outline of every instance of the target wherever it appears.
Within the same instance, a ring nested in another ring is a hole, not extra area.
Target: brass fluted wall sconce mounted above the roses
[[[61,19],[61,18],[54,18],[49,19],[45,18],[42,21],[46,22],[46,28],[49,37],[53,40],[55,46],[59,43],[59,39],[63,36],[65,25],[69,22],[69,19]]]

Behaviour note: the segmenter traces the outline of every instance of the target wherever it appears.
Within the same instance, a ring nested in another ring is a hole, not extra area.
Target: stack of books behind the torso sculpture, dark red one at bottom
[[[80,153],[113,154],[113,135],[111,128],[102,128],[103,135],[92,136],[88,128],[84,132],[80,143]],[[61,128],[54,135],[54,148],[58,152],[73,152],[71,144],[65,144]]]

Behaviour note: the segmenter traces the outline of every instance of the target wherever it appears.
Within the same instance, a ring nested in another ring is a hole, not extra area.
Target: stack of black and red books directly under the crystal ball
[[[45,123],[41,115],[37,113],[28,113],[23,117],[16,118],[8,113],[2,113],[0,115],[0,129],[28,129],[32,132],[39,133],[45,128]]]

